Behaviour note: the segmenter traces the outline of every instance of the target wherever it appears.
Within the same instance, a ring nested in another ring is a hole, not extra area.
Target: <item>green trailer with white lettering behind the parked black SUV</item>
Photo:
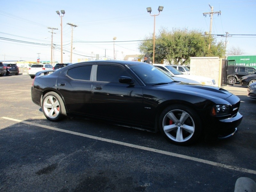
[[[227,60],[235,60],[236,66],[253,67],[256,69],[256,55],[232,55]]]

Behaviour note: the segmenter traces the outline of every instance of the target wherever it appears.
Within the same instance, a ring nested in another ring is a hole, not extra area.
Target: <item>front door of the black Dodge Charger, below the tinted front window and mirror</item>
[[[120,76],[132,78],[133,84],[119,83]],[[118,64],[98,64],[92,82],[93,114],[98,117],[141,124],[143,92],[128,68]]]

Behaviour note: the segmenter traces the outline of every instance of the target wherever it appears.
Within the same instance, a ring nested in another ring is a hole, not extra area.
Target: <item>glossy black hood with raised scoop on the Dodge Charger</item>
[[[180,92],[184,94],[190,94],[199,96],[201,95],[204,98],[207,99],[226,99],[233,95],[231,92],[228,92],[225,89],[222,89],[220,87],[213,87],[208,85],[196,85],[196,84],[167,84],[167,85],[160,85],[158,87],[161,90],[166,91],[175,91]]]

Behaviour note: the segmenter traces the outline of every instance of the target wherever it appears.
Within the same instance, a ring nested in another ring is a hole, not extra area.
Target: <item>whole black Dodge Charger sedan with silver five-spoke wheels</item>
[[[50,121],[68,116],[99,118],[160,131],[178,145],[191,144],[201,135],[227,138],[243,118],[236,95],[218,87],[175,81],[156,67],[136,61],[88,61],[37,75],[31,96]]]

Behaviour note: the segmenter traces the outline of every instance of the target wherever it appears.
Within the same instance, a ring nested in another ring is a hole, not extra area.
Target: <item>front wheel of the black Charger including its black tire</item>
[[[199,139],[202,125],[195,110],[175,104],[165,108],[161,113],[159,129],[165,139],[171,143],[189,145]]]

